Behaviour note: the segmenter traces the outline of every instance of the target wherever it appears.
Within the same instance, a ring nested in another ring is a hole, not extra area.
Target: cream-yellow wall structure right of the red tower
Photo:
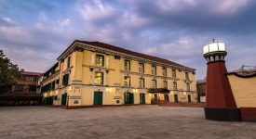
[[[237,107],[256,107],[256,67],[243,66],[227,74]]]

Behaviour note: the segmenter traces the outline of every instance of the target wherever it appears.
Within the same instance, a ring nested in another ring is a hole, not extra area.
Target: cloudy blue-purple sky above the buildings
[[[0,49],[45,72],[74,40],[166,58],[206,76],[203,46],[227,46],[229,71],[255,66],[254,0],[0,0]]]

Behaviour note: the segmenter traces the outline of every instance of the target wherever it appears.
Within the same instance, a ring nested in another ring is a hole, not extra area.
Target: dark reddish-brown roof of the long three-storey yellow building
[[[113,51],[116,51],[116,52],[124,53],[124,54],[127,54],[127,55],[135,56],[135,57],[142,57],[142,58],[145,58],[145,59],[153,60],[153,61],[156,61],[156,62],[168,64],[168,65],[178,66],[178,67],[182,67],[182,68],[185,68],[185,69],[191,69],[191,68],[185,67],[185,66],[183,66],[181,64],[178,64],[176,62],[170,61],[168,59],[164,59],[164,58],[161,58],[161,57],[149,56],[149,55],[145,55],[145,54],[142,54],[142,53],[134,52],[134,51],[122,48],[122,47],[115,46],[113,44],[104,44],[104,43],[101,43],[101,42],[88,42],[88,41],[80,41],[80,40],[75,40],[74,43],[75,42],[82,43],[82,44],[90,44],[90,45],[98,46],[98,47],[101,47],[101,48],[104,48],[104,49],[109,49],[109,50],[113,50]],[[63,56],[73,44],[71,44],[61,54],[61,56]],[[58,59],[60,57],[58,57]],[[195,69],[192,69],[192,70],[195,70]]]

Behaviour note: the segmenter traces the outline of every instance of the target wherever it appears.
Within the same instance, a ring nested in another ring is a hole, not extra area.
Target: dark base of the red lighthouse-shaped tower
[[[205,117],[207,120],[219,121],[240,121],[240,109],[236,107],[205,107]]]

